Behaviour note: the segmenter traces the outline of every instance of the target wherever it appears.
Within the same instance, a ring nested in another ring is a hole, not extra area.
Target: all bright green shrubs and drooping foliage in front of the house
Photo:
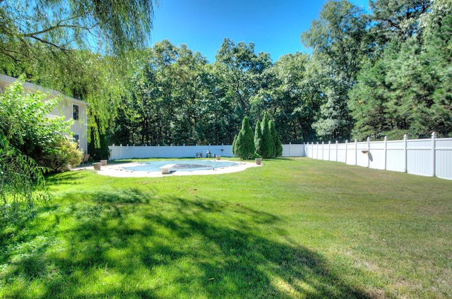
[[[68,140],[69,122],[47,118],[56,99],[25,94],[20,82],[0,94],[0,214],[4,220],[35,202],[47,201],[45,171],[62,171],[81,162],[76,142]]]

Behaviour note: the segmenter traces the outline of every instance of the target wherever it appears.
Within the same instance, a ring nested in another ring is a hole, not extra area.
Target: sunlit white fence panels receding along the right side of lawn
[[[345,143],[312,142],[304,145],[306,156],[349,165],[437,176],[452,180],[452,138],[432,138]]]

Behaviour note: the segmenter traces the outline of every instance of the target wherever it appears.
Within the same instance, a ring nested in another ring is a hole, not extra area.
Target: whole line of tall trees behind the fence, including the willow
[[[92,18],[103,16],[103,6],[83,3],[93,9]],[[143,5],[152,11],[151,1]],[[123,14],[128,9],[113,8]],[[66,13],[69,22],[71,12]],[[57,51],[52,43],[61,32],[49,30],[45,47],[39,39],[29,42],[28,51],[38,58],[8,52],[1,71],[25,73],[34,83],[90,102],[93,151],[112,143],[232,144],[244,116],[254,126],[264,114],[285,143],[405,133],[424,138],[432,131],[451,136],[451,16],[451,0],[369,1],[369,11],[346,0],[327,1],[301,32],[309,54],[287,54],[275,62],[256,53],[252,42],[228,38],[213,62],[167,40],[131,50],[130,42],[140,36],[114,27],[117,34],[107,44],[123,51],[93,51],[89,44]],[[136,19],[149,27],[150,19],[141,14]],[[128,37],[124,44],[119,35]],[[15,50],[33,37],[16,36]]]

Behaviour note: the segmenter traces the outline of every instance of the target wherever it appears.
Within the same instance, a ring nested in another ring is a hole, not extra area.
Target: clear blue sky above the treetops
[[[349,0],[366,9],[369,0]],[[210,62],[230,38],[254,43],[254,50],[270,54],[273,61],[296,51],[305,52],[300,35],[319,18],[326,0],[159,0],[154,12],[151,43],[168,39]]]

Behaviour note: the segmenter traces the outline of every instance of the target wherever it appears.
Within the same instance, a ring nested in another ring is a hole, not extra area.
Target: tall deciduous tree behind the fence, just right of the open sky
[[[352,118],[347,92],[356,82],[361,61],[369,53],[368,16],[350,2],[328,1],[319,20],[302,33],[302,42],[313,49],[319,73],[324,78],[324,102],[314,123],[317,135],[326,139],[348,139]]]

